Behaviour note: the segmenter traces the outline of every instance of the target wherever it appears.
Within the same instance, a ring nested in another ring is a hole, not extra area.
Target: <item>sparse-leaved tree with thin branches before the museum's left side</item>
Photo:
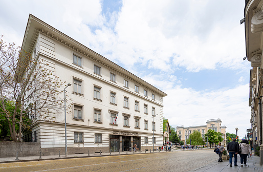
[[[23,51],[14,43],[6,44],[0,37],[0,107],[8,123],[13,141],[21,141],[21,133],[30,128],[31,120],[52,121],[54,110],[61,108],[64,84],[49,70],[49,63],[35,54]],[[14,102],[14,110],[8,110],[7,102]],[[17,137],[18,134],[18,137]]]

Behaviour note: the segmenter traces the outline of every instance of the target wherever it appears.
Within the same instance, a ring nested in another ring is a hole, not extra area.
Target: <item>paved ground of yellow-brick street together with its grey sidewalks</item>
[[[247,167],[229,167],[229,161],[218,163],[213,149],[155,153],[112,153],[87,155],[0,158],[0,171],[263,171],[259,157],[248,159]],[[53,159],[53,160],[52,160]],[[12,162],[13,161],[13,162]],[[16,160],[17,161],[17,160]],[[4,163],[9,162],[9,163]]]

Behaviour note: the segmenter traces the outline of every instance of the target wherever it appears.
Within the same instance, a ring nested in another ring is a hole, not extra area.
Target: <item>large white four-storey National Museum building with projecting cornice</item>
[[[72,84],[67,88],[72,99],[67,113],[68,154],[126,151],[133,144],[152,149],[153,140],[163,144],[167,94],[31,14],[22,49],[48,62],[49,70]],[[32,133],[24,140],[40,142],[43,155],[55,155],[58,150],[64,153],[64,136],[64,112],[60,112],[53,122],[36,116]]]

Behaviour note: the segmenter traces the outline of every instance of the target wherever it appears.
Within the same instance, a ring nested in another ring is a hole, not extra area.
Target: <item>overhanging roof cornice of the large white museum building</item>
[[[81,45],[79,42],[77,42],[76,40],[74,40],[73,38],[63,34],[62,32],[56,30],[55,28],[49,26],[48,24],[46,24],[45,22],[42,22],[42,20],[38,19],[37,17],[33,16],[30,14],[29,16],[29,22],[27,25],[27,30],[25,33],[25,36],[29,36],[28,34],[28,30],[31,26],[32,20],[34,20],[36,23],[38,23],[39,25],[35,24],[32,25],[32,27],[34,27],[34,31],[32,33],[30,42],[29,42],[29,47],[26,50],[27,52],[32,53],[35,42],[37,40],[37,36],[39,33],[48,36],[49,38],[60,42],[60,44],[63,44],[64,46],[67,46],[68,48],[72,49],[72,51],[75,51],[77,53],[80,53],[86,57],[89,57],[90,59],[100,63],[101,65],[103,65],[104,67],[111,69],[112,71],[119,73],[120,75],[128,78],[131,81],[134,81],[135,83],[141,85],[142,87],[150,90],[151,92],[158,94],[159,96],[167,96],[166,93],[162,92],[161,90],[155,88],[153,85],[149,84],[148,82],[142,80],[141,78],[137,77],[136,75],[126,71],[125,69],[121,68],[120,66],[118,66],[117,64],[115,64],[114,62],[112,62],[111,60],[108,60],[107,58],[101,56],[100,54],[92,51],[91,49]],[[41,27],[41,28],[40,28]],[[23,45],[22,48],[25,47],[25,44],[27,41],[24,37],[23,40]],[[145,84],[145,83],[147,84]],[[151,88],[152,87],[152,88]]]

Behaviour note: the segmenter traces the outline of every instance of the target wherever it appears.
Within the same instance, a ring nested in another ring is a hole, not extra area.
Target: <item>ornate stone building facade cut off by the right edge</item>
[[[245,24],[246,57],[251,63],[249,106],[251,107],[250,143],[255,147],[262,144],[262,87],[263,61],[263,1],[246,1],[243,22]],[[242,24],[240,21],[240,24]]]

